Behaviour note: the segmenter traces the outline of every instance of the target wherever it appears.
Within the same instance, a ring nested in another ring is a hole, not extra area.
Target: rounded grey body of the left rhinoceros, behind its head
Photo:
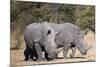
[[[40,42],[42,38],[41,25],[37,23],[30,24],[26,27],[24,31],[24,39],[26,45],[30,48],[33,47],[34,42]]]

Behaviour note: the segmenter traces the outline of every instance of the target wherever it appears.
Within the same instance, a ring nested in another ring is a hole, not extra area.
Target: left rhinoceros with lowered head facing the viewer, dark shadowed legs
[[[47,22],[33,23],[26,27],[24,32],[24,40],[26,49],[24,51],[25,60],[33,56],[37,60],[43,60],[42,51],[46,52],[48,58],[54,58],[57,53],[57,45],[55,44],[56,32],[48,25]]]

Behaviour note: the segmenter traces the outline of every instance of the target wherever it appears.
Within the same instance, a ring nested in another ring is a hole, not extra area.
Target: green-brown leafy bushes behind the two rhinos
[[[69,22],[82,30],[95,32],[95,6],[11,1],[11,35],[16,32],[15,39],[23,34],[28,24],[43,21]]]

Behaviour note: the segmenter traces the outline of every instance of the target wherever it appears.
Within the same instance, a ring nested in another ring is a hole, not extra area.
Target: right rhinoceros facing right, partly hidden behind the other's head
[[[49,23],[49,25],[55,30],[55,32],[60,31],[60,33],[55,36],[55,43],[57,48],[63,47],[64,58],[67,58],[67,53],[70,48],[72,50],[71,57],[74,57],[76,48],[82,55],[85,55],[92,47],[87,47],[87,45],[84,43],[84,34],[78,26],[71,23]]]

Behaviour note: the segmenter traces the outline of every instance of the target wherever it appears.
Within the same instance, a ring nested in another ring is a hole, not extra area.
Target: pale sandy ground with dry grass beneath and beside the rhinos
[[[95,35],[93,32],[89,32],[84,39],[87,46],[92,45],[92,48],[88,51],[87,55],[81,55],[79,51],[76,51],[75,58],[71,58],[71,50],[68,52],[68,58],[63,59],[62,52],[58,55],[58,59],[53,61],[24,61],[24,49],[11,50],[11,67],[28,66],[28,65],[40,65],[40,64],[56,64],[56,63],[74,63],[74,62],[86,62],[95,61]]]

